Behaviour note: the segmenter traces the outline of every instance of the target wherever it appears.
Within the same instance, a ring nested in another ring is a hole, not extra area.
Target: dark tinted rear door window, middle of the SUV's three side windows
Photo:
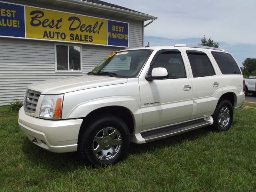
[[[192,69],[193,77],[215,75],[212,64],[204,52],[186,51]]]

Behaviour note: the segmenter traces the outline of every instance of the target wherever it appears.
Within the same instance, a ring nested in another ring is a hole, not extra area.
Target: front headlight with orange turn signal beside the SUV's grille
[[[40,117],[46,119],[60,119],[63,94],[45,95],[40,108]]]

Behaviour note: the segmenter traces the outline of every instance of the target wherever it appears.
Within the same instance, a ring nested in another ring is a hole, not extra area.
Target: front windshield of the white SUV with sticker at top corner
[[[131,50],[112,53],[102,60],[88,75],[135,77],[151,53],[152,50]]]

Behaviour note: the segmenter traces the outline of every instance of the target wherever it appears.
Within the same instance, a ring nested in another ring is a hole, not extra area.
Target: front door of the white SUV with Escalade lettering
[[[190,120],[193,95],[188,68],[183,61],[179,50],[158,51],[148,74],[153,68],[163,67],[167,69],[169,77],[146,80],[145,76],[140,76],[141,131]]]

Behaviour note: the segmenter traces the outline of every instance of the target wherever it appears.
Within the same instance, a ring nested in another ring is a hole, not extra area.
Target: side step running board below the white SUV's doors
[[[141,133],[141,137],[144,139],[145,142],[150,142],[162,138],[166,138],[169,136],[174,136],[176,134],[180,134],[183,132],[188,132],[190,130],[198,129],[201,127],[205,127],[211,125],[213,123],[212,117],[193,120],[190,122],[185,122],[182,124],[177,124],[173,126],[168,126],[156,130],[151,130],[148,132]]]

